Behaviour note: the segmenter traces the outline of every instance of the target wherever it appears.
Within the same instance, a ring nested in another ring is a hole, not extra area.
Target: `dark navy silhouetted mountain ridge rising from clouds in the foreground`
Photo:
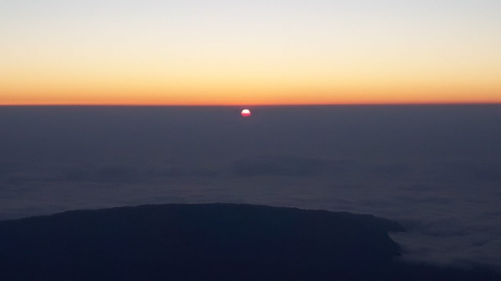
[[[2,280],[501,280],[397,261],[372,215],[245,204],[76,210],[0,221]]]

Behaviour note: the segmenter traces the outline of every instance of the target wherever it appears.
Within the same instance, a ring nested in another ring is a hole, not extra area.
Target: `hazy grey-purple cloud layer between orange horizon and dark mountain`
[[[0,219],[232,202],[398,221],[402,259],[501,268],[501,105],[0,107]]]

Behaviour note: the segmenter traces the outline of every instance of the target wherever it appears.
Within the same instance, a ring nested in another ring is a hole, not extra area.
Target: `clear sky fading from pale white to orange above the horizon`
[[[501,102],[499,0],[2,0],[0,104]]]

